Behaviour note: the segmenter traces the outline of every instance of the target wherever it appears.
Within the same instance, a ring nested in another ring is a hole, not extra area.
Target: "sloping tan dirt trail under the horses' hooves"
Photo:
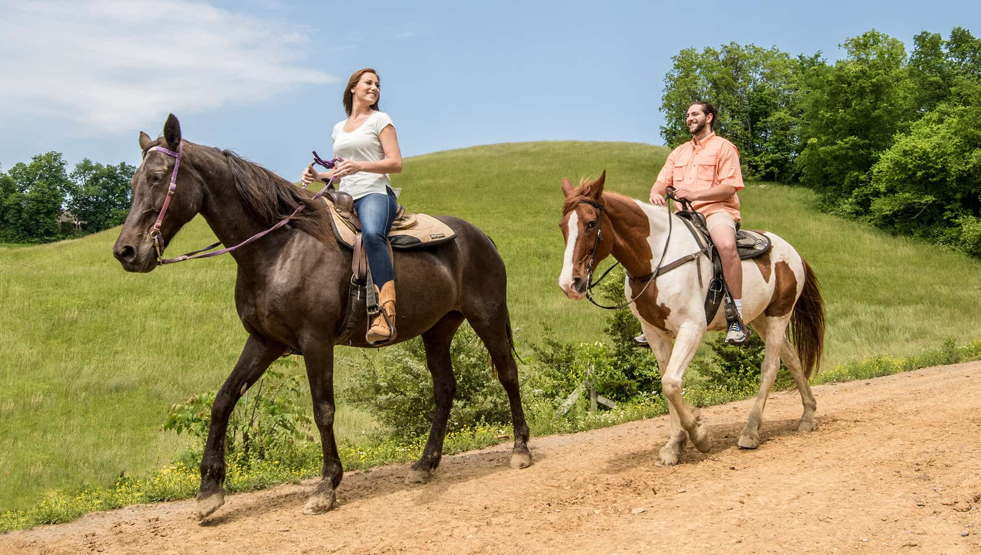
[[[702,410],[714,447],[654,466],[667,418],[350,473],[329,514],[312,482],[233,495],[203,524],[192,502],[134,506],[0,535],[0,553],[981,553],[981,363],[771,395],[759,449],[736,447],[749,401]],[[962,535],[966,532],[967,535]]]

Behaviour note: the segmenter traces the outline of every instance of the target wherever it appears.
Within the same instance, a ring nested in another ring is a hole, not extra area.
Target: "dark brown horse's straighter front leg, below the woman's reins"
[[[320,430],[324,450],[322,478],[303,506],[303,514],[319,515],[334,507],[336,489],[344,475],[334,438],[334,345],[329,340],[322,340],[304,346],[303,360],[310,380],[310,396],[313,397],[313,420]]]

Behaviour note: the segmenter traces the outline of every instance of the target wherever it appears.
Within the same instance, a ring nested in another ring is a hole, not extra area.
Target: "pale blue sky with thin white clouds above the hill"
[[[136,165],[169,112],[185,138],[290,179],[331,151],[347,76],[374,67],[404,156],[496,142],[661,144],[671,57],[730,41],[841,55],[977,2],[11,2],[0,0],[0,169],[56,150]],[[697,8],[693,7],[697,6]]]

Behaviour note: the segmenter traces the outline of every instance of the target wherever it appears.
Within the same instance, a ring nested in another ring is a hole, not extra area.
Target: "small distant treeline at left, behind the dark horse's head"
[[[67,168],[52,151],[0,173],[0,242],[42,243],[123,223],[135,168],[87,158]]]

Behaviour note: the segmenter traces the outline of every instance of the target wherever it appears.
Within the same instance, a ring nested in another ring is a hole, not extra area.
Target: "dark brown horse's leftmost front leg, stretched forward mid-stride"
[[[201,487],[197,492],[197,518],[203,519],[225,504],[225,435],[235,403],[284,353],[284,345],[266,343],[255,335],[245,342],[232,375],[225,380],[211,405],[211,427],[201,458]]]

